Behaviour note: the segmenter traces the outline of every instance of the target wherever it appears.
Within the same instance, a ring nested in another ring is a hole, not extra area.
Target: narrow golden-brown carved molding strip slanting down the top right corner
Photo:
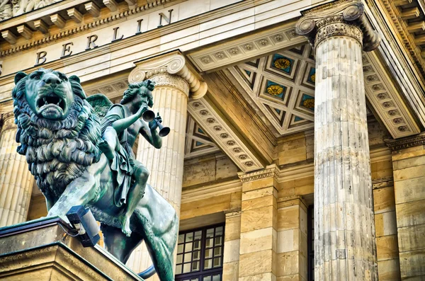
[[[409,33],[406,23],[404,23],[402,18],[399,16],[399,10],[394,6],[392,0],[382,0],[382,4],[385,6],[392,23],[397,29],[399,36],[404,43],[404,47],[406,47],[407,52],[411,55],[416,67],[419,69],[419,72],[422,76],[425,76],[425,61],[421,57],[421,50],[419,50],[414,43],[414,37]]]

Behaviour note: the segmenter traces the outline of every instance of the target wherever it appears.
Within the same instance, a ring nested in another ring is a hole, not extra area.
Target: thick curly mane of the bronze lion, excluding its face
[[[60,197],[67,185],[99,161],[101,151],[100,121],[85,99],[78,81],[69,79],[74,93],[74,104],[64,120],[38,117],[26,101],[26,81],[18,81],[13,88],[13,113],[18,125],[16,142],[18,153],[26,156],[28,168],[37,180],[38,188],[46,197]]]

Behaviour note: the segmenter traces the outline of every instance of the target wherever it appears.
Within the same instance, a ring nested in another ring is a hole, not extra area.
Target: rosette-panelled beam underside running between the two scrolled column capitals
[[[200,71],[212,71],[302,42],[305,39],[295,34],[293,23],[287,23],[267,32],[246,35],[244,38],[191,52],[188,58]]]

